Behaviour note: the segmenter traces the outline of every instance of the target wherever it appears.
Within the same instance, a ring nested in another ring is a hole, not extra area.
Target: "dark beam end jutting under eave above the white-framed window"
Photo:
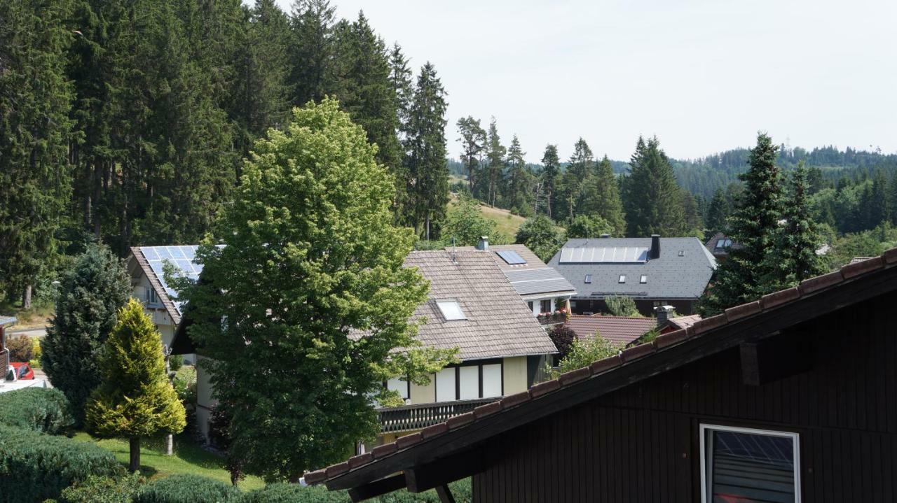
[[[813,369],[813,337],[788,332],[739,345],[742,381],[749,386],[785,379]]]

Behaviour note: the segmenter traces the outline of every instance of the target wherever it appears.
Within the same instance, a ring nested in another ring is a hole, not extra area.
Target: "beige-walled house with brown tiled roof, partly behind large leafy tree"
[[[405,405],[379,410],[381,443],[526,391],[540,378],[546,356],[557,352],[491,253],[411,252],[405,267],[419,269],[430,281],[429,298],[413,315],[413,320],[425,320],[418,340],[431,347],[457,347],[461,362],[434,374],[427,386],[407,379],[384,383]],[[174,354],[195,352],[184,327],[182,323],[172,345]],[[207,436],[215,402],[202,365],[196,395],[197,424]]]

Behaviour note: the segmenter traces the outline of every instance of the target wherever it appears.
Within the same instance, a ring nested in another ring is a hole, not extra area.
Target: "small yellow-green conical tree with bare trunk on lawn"
[[[118,311],[100,360],[100,387],[86,407],[86,424],[100,438],[130,440],[130,470],[140,468],[140,438],[178,433],[187,415],[165,375],[161,335],[144,306],[131,299]]]

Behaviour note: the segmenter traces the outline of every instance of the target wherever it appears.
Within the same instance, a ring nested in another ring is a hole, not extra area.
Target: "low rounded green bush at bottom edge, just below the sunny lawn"
[[[197,475],[171,475],[152,481],[137,492],[135,503],[238,502],[242,493],[224,482]]]

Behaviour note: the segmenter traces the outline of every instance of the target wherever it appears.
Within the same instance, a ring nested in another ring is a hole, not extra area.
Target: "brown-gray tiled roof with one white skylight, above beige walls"
[[[411,252],[405,267],[430,280],[430,296],[414,311],[425,318],[417,338],[423,345],[457,346],[462,360],[557,353],[520,295],[502,274],[492,253],[470,250]],[[437,300],[457,300],[466,320],[447,321]]]

